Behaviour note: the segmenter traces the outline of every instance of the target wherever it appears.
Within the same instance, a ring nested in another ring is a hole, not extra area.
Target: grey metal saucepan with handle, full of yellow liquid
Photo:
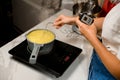
[[[35,29],[26,35],[28,48],[31,51],[30,64],[35,64],[37,57],[49,54],[53,48],[55,34],[48,29]]]

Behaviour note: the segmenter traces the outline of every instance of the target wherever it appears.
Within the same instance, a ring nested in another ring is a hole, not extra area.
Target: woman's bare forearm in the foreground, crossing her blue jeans
[[[89,38],[88,40],[96,50],[98,56],[108,71],[120,80],[120,60],[108,51],[107,48],[97,39],[97,37]]]

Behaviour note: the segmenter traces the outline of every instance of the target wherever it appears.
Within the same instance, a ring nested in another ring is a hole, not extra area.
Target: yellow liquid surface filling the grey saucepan
[[[38,29],[27,34],[27,39],[36,44],[46,44],[55,39],[55,34],[49,30]]]

